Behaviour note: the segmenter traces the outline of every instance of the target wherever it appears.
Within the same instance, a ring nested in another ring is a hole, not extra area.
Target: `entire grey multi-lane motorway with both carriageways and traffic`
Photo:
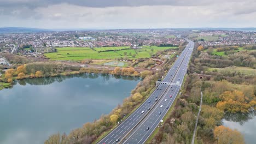
[[[162,82],[177,83],[177,85],[159,84],[137,110],[98,143],[117,143],[116,140],[121,140],[122,143],[144,143],[148,139],[170,109],[187,73],[187,66],[194,47],[193,41],[187,41],[188,45],[162,80]],[[170,97],[170,95],[172,96]],[[147,127],[149,130],[146,130]]]

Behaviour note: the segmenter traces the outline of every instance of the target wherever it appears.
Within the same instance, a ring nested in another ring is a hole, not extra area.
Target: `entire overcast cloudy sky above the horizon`
[[[256,1],[0,0],[0,27],[256,27]]]

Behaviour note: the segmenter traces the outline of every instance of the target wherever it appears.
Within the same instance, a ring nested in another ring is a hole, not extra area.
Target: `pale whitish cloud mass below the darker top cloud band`
[[[218,1],[219,2],[219,1]],[[208,2],[207,2],[208,3]],[[94,8],[67,3],[33,9],[27,19],[15,11],[17,24],[40,28],[172,28],[172,27],[255,27],[256,2],[227,1],[208,5],[151,5]],[[0,8],[1,11],[1,8]],[[25,9],[27,13],[27,9]],[[24,13],[26,15],[26,13]],[[12,17],[15,17],[13,14]],[[27,14],[29,15],[29,14]],[[3,17],[3,15],[2,15]],[[1,18],[1,14],[0,14]]]

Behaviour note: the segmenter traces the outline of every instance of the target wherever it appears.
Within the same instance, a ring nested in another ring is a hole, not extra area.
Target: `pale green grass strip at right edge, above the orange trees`
[[[246,68],[246,67],[227,67],[227,68],[208,68],[208,71],[214,71],[217,70],[220,74],[225,73],[234,73],[235,71],[237,73],[240,73],[242,75],[248,75],[248,76],[256,76],[256,69]]]

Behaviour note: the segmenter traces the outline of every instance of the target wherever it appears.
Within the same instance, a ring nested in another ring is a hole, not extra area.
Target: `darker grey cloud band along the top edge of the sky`
[[[0,7],[26,6],[28,8],[46,7],[52,4],[68,3],[85,7],[139,7],[143,5],[207,5],[221,3],[222,0],[0,0]],[[226,0],[226,2],[238,2],[238,0]]]

